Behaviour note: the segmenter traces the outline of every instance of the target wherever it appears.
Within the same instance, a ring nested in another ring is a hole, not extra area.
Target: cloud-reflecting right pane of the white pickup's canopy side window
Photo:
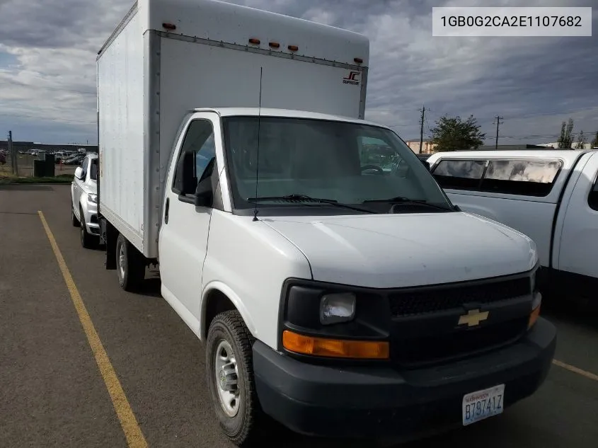
[[[481,190],[511,195],[546,196],[563,163],[548,160],[491,160]]]

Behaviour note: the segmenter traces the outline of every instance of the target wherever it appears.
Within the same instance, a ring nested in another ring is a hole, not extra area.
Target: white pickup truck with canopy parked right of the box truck
[[[534,240],[541,287],[597,297],[598,151],[457,151],[427,161],[454,204]]]

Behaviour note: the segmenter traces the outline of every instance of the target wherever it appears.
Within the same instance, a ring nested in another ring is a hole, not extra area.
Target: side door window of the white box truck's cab
[[[193,120],[187,128],[183,147],[178,155],[173,190],[195,191],[208,166],[214,159],[214,128],[207,120]],[[192,184],[192,185],[191,185]]]

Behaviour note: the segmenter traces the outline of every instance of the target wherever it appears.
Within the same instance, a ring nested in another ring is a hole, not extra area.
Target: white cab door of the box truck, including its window
[[[199,331],[202,269],[212,207],[195,205],[197,183],[216,165],[214,113],[196,113],[181,133],[165,185],[159,234],[163,297],[194,331]]]

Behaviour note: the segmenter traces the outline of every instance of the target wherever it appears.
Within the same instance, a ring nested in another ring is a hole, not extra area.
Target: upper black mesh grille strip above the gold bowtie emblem
[[[464,304],[490,304],[530,294],[529,277],[477,284],[406,290],[389,296],[392,316],[414,316],[461,308]]]

